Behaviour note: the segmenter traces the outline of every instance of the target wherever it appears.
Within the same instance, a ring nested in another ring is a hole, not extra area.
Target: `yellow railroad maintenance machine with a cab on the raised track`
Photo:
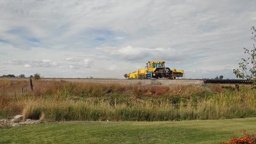
[[[148,79],[148,78],[169,78],[183,77],[183,70],[166,68],[165,61],[148,61],[145,68],[139,68],[130,74],[125,74],[125,78],[129,79]]]

